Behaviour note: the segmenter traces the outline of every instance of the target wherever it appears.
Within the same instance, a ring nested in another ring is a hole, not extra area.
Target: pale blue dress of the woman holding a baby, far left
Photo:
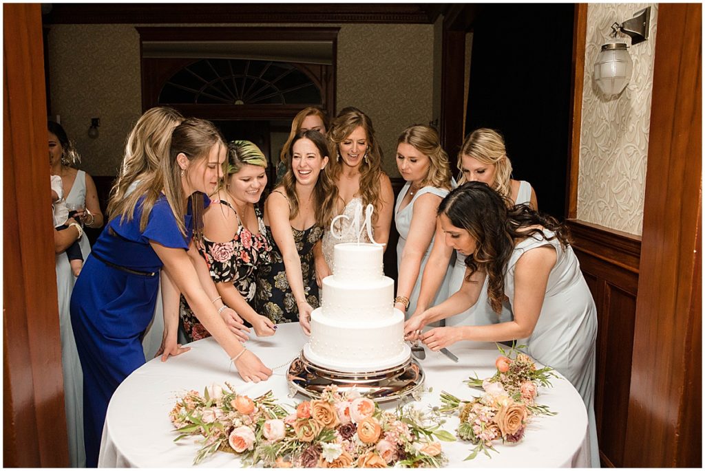
[[[67,204],[85,207],[86,173],[78,170],[71,191],[64,199]],[[90,253],[87,236],[78,241],[83,259]],[[59,294],[59,329],[61,332],[61,369],[63,370],[63,403],[66,409],[68,429],[68,455],[71,467],[85,467],[83,448],[83,372],[76,351],[76,342],[71,328],[69,301],[76,278],[71,271],[66,253],[56,254],[56,289]]]

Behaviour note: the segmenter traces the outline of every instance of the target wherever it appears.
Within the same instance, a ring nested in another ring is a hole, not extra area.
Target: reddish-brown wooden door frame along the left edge
[[[4,4],[4,465],[68,465],[39,4]],[[23,198],[21,195],[35,195]],[[44,195],[44,196],[42,196]]]

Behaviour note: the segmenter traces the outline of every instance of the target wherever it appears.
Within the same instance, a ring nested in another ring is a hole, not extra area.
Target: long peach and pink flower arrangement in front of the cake
[[[194,464],[226,451],[245,465],[265,467],[441,467],[447,458],[435,439],[455,438],[439,429],[438,415],[426,417],[412,406],[383,411],[334,386],[289,412],[271,391],[252,399],[228,383],[188,392],[169,414],[179,432],[174,441],[204,437]]]

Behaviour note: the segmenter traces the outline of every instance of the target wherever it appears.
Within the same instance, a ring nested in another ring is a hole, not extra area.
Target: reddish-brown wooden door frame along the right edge
[[[701,466],[700,4],[659,4],[624,465]],[[664,171],[668,169],[668,171]],[[685,431],[689,432],[686,435]]]

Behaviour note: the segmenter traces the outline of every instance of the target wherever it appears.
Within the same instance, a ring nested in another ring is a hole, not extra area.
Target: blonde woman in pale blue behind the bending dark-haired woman
[[[538,209],[536,193],[532,186],[528,182],[511,178],[512,163],[507,157],[504,139],[498,132],[480,128],[468,134],[458,153],[458,169],[460,170],[458,184],[484,182],[501,196],[505,196],[508,204],[529,204],[532,209]],[[451,295],[460,289],[465,278],[465,256],[446,244],[435,244],[422,277],[417,313],[422,313],[434,306],[434,298],[438,299],[436,294],[439,294],[439,287],[445,280],[446,266],[449,263],[451,272],[448,295]],[[487,301],[485,281],[477,303],[472,308],[446,319],[446,325],[485,325],[511,320],[511,318],[511,310],[506,304],[501,315],[497,315],[491,309]]]

